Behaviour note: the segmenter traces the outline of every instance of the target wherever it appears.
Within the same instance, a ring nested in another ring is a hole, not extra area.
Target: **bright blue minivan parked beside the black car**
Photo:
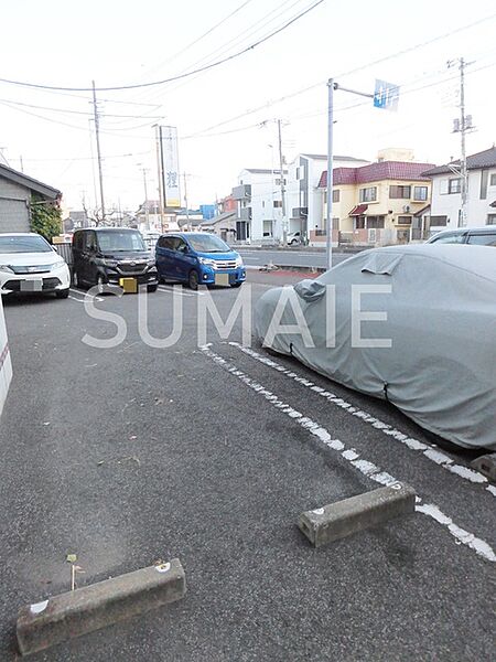
[[[170,233],[159,237],[157,270],[162,280],[239,287],[246,279],[242,259],[219,237],[203,232]]]

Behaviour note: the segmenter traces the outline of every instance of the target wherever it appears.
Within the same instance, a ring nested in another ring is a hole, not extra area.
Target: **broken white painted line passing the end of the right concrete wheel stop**
[[[333,439],[330,431],[321,426],[317,421],[312,420],[301,412],[293,409],[293,407],[291,407],[289,404],[281,401],[278,395],[268,391],[262,384],[256,382],[242,371],[238,370],[236,365],[216,354],[209,349],[209,346],[203,346],[201,350],[203,354],[211,359],[216,365],[220,366],[223,370],[230,373],[246,386],[251,388],[255,393],[262,396],[268,403],[270,403],[272,407],[285,414],[292,419],[293,423],[296,423],[302,428],[306,429],[311,435],[316,437],[326,448],[339,452],[341,456],[347,462],[349,462],[349,465],[352,465],[355,469],[358,469],[360,473],[370,480],[381,485],[390,485],[396,482],[401,482],[390,473],[382,471],[379,467],[374,465],[374,462],[369,462],[368,460],[360,458],[360,455],[356,451],[356,449],[346,449],[343,441],[339,439]],[[496,562],[496,554],[488,543],[455,524],[453,520],[445,515],[435,504],[424,503],[420,496],[417,496],[416,511],[431,517],[434,520],[434,522],[438,522],[444,526],[451,533],[451,535],[456,538],[457,543],[466,545],[486,560],[492,563]]]

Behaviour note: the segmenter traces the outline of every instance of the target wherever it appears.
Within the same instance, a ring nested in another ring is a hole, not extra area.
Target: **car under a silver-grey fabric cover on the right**
[[[265,346],[387,399],[465,448],[496,449],[496,257],[484,246],[365,250],[255,311]]]

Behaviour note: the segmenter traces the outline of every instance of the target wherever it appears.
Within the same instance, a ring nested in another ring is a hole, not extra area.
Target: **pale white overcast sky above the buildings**
[[[251,45],[314,1],[6,2],[0,77],[62,87],[89,87],[93,78],[100,87],[160,81]],[[463,56],[472,63],[466,107],[476,126],[467,151],[486,149],[496,139],[495,28],[492,0],[324,0],[266,43],[208,72],[98,93],[107,206],[138,207],[142,168],[149,197],[158,197],[152,125],[159,118],[177,126],[192,205],[228,194],[242,168],[277,163],[276,124],[260,127],[263,120],[284,120],[288,161],[298,152],[324,153],[325,82],[332,75],[363,92],[374,92],[375,78],[401,86],[396,114],[336,93],[337,153],[373,160],[380,148],[409,147],[418,160],[442,163],[460,154],[460,137],[451,132],[459,71],[446,62]],[[0,83],[4,157],[17,169],[22,157],[24,172],[61,189],[69,209],[82,209],[83,195],[95,204],[90,100],[87,92]]]

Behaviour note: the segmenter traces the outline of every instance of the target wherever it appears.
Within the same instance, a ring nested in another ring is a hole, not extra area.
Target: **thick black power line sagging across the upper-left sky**
[[[217,62],[213,62],[212,64],[207,64],[203,67],[198,67],[191,72],[179,74],[179,75],[172,76],[170,78],[164,78],[163,81],[152,81],[150,83],[138,83],[134,85],[116,85],[116,86],[107,86],[107,87],[97,87],[97,88],[95,88],[95,92],[116,92],[116,90],[120,90],[120,89],[137,89],[140,87],[153,87],[157,85],[164,85],[165,83],[172,83],[173,81],[180,81],[181,78],[187,78],[188,76],[193,76],[194,74],[198,74],[201,72],[205,72],[211,68],[217,67],[222,64],[225,64],[226,62],[235,60],[236,57],[240,57],[245,53],[248,53],[249,51],[252,51],[254,49],[261,45],[262,43],[269,41],[270,39],[272,39],[277,34],[279,34],[283,30],[287,30],[290,25],[292,25],[293,23],[299,21],[305,14],[311,12],[313,9],[319,7],[319,4],[322,4],[322,2],[324,2],[324,0],[316,0],[313,4],[311,4],[310,7],[308,7],[303,11],[301,11],[299,14],[296,14],[295,17],[293,17],[292,19],[287,21],[283,25],[281,25],[277,30],[273,30],[270,34],[259,39],[255,43],[242,49],[241,51],[238,51],[237,53],[233,53],[231,55],[228,55],[227,57],[218,60]],[[9,78],[0,78],[0,82],[8,83],[10,85],[20,85],[21,87],[34,87],[37,89],[53,89],[53,90],[60,90],[60,92],[93,92],[93,89],[94,89],[93,87],[62,87],[62,86],[56,86],[56,85],[41,85],[37,83],[25,83],[25,82],[21,82],[21,81],[11,81]]]

